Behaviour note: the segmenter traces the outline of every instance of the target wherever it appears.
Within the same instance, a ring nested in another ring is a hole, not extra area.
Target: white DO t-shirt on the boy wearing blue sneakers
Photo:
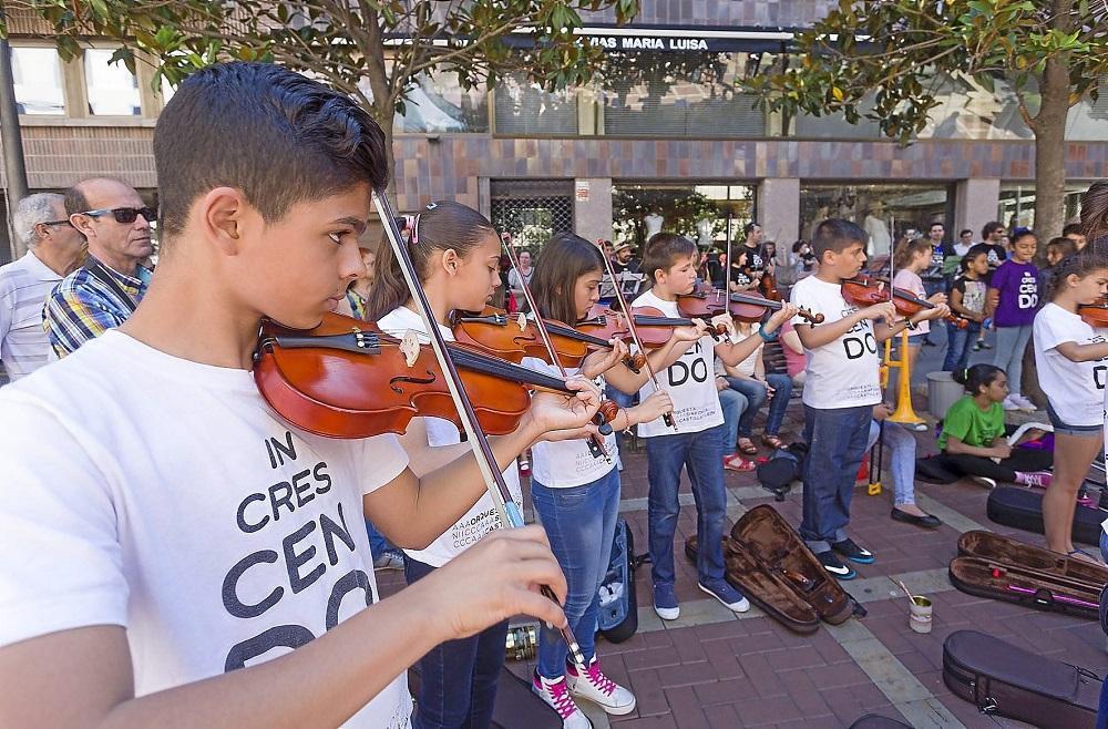
[[[653,307],[667,317],[679,317],[676,301],[665,301],[654,291],[646,291],[635,299],[634,307]],[[638,425],[639,438],[655,435],[673,435],[675,433],[699,433],[700,431],[722,424],[724,412],[719,407],[719,392],[716,390],[715,346],[711,337],[701,337],[689,347],[681,358],[670,364],[664,372],[658,372],[661,389],[669,393],[674,401],[674,420],[677,430],[666,425],[661,418]],[[639,390],[642,402],[654,393],[654,382],[646,381]]]

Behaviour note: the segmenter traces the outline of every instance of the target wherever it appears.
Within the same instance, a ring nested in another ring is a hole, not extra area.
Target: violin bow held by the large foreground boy
[[[492,496],[503,523],[510,524],[512,527],[521,527],[524,525],[523,514],[520,513],[519,506],[512,500],[512,493],[507,490],[507,483],[504,482],[504,474],[496,466],[496,456],[493,455],[489,439],[478,423],[473,403],[470,402],[469,394],[466,394],[458,370],[454,368],[454,362],[450,358],[447,341],[442,338],[442,332],[439,331],[439,322],[431,311],[431,304],[427,300],[423,287],[419,285],[416,266],[412,265],[408,246],[404,244],[400,228],[397,226],[397,217],[392,212],[392,204],[382,191],[373,191],[373,207],[377,208],[377,214],[381,218],[381,225],[384,227],[384,234],[389,238],[389,245],[392,246],[392,253],[396,255],[397,260],[400,261],[400,270],[404,275],[408,290],[418,305],[419,315],[423,319],[423,326],[427,328],[428,337],[431,340],[431,349],[434,351],[434,358],[439,361],[439,367],[445,376],[447,389],[450,390],[450,398],[454,401],[454,407],[458,408],[458,415],[462,421],[462,428],[465,429],[470,448],[473,451],[473,456],[476,459],[481,475],[484,478],[489,494]],[[557,603],[557,596],[548,585],[542,585],[540,589],[543,596]],[[570,629],[568,625],[562,628],[562,637],[565,639],[566,645],[570,646],[570,655],[573,656],[574,663],[584,669],[585,657],[581,653],[577,638],[574,637],[573,630]]]

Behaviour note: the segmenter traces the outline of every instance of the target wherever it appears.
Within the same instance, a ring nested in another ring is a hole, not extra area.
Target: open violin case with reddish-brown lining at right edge
[[[950,576],[971,595],[1096,620],[1108,567],[977,530],[958,538]]]

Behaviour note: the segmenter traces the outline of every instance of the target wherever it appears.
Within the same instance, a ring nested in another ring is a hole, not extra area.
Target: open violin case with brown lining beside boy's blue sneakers
[[[697,546],[695,535],[685,541],[685,554],[693,562]],[[851,615],[865,614],[768,504],[748,511],[724,537],[724,566],[727,582],[797,633],[818,630],[820,620],[839,625]]]

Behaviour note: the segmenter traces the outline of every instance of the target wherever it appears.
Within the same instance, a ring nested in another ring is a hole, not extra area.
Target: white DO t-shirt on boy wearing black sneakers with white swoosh
[[[858,310],[842,297],[842,286],[829,284],[815,276],[797,281],[790,301],[812,314],[822,314],[825,327]],[[807,327],[801,318],[792,320],[796,328]],[[881,383],[878,368],[878,340],[873,322],[859,321],[845,335],[817,349],[804,349],[808,372],[804,379],[803,401],[810,408],[859,408],[881,402]]]

